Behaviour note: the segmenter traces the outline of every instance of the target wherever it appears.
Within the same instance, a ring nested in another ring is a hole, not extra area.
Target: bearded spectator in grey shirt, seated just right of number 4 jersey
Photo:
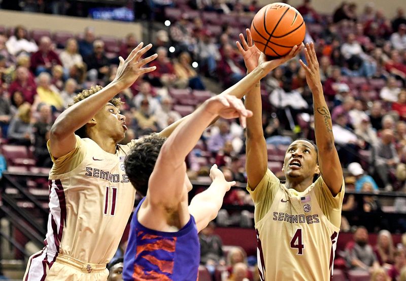
[[[368,272],[379,268],[379,262],[372,246],[368,244],[368,231],[359,226],[354,233],[354,241],[346,246],[347,261],[352,269]]]

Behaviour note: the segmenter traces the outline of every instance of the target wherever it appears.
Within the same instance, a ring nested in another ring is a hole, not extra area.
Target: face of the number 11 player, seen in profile
[[[94,119],[97,129],[106,137],[111,137],[117,142],[124,138],[125,131],[127,131],[125,116],[120,114],[120,110],[110,102],[96,113]]]

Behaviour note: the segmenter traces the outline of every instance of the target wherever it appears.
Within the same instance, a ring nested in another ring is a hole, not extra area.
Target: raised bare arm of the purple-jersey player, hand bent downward
[[[245,117],[251,115],[251,111],[245,109],[241,100],[233,96],[216,96],[205,101],[162,145],[148,182],[149,202],[166,212],[177,209],[184,199],[181,195],[185,188],[185,157],[206,127],[217,116],[224,118],[242,116],[242,125],[245,126]]]

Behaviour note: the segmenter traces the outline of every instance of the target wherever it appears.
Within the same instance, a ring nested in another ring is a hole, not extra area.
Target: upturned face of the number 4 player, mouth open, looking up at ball
[[[289,145],[282,168],[287,178],[303,178],[319,173],[317,152],[313,144],[306,140],[297,140]]]

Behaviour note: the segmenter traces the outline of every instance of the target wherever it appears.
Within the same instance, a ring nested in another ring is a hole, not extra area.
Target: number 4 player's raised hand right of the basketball
[[[308,65],[304,64],[302,60],[299,60],[299,62],[304,68],[304,71],[306,71],[306,82],[308,83],[310,90],[312,92],[322,90],[323,86],[321,85],[320,79],[320,67],[313,42],[310,44],[306,43],[306,48],[304,48],[304,56],[306,57]]]

